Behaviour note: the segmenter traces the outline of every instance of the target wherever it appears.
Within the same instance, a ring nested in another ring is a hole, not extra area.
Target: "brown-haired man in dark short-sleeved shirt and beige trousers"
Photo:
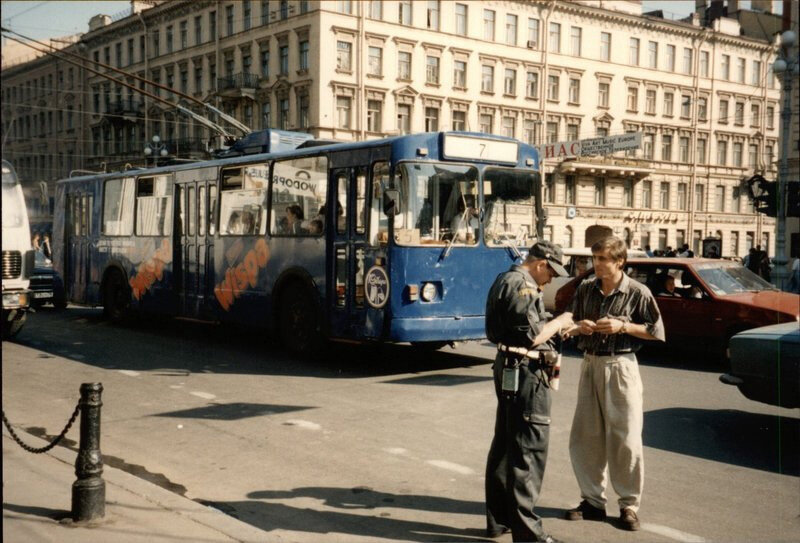
[[[605,520],[606,476],[619,495],[620,522],[638,530],[644,483],[642,380],[636,352],[643,340],[664,341],[664,323],[650,290],[622,270],[625,242],[592,246],[595,279],[578,286],[567,309],[569,330],[583,351],[569,452],[582,501],[568,520]]]

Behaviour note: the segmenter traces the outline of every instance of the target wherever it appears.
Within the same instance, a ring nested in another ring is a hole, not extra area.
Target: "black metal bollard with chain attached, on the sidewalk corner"
[[[106,482],[103,480],[103,457],[100,455],[100,407],[103,405],[101,383],[81,385],[81,442],[75,460],[72,483],[72,520],[90,521],[106,514]]]

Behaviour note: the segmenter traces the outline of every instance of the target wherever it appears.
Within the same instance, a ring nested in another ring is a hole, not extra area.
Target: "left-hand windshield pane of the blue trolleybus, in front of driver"
[[[404,162],[398,167],[400,245],[475,245],[479,228],[478,170],[461,164]],[[399,220],[398,220],[399,217]]]

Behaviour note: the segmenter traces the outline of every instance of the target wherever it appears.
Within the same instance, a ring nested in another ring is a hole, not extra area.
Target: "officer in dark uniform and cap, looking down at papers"
[[[521,264],[495,279],[486,300],[486,336],[497,345],[494,384],[497,417],[486,463],[487,535],[511,531],[514,541],[555,541],[533,512],[542,487],[550,434],[550,378],[557,356],[553,336],[572,325],[552,319],[541,288],[567,276],[561,248],[531,247]]]

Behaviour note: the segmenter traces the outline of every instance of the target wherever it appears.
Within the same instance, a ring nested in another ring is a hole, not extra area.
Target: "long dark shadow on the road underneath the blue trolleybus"
[[[263,330],[147,317],[115,326],[101,309],[71,307],[32,315],[14,342],[104,369],[161,375],[232,373],[326,378],[392,376],[447,370],[489,360],[410,345],[330,343],[316,358],[296,359]],[[169,361],[169,367],[164,367]],[[469,380],[448,384],[469,384]],[[434,384],[434,383],[431,383]]]

